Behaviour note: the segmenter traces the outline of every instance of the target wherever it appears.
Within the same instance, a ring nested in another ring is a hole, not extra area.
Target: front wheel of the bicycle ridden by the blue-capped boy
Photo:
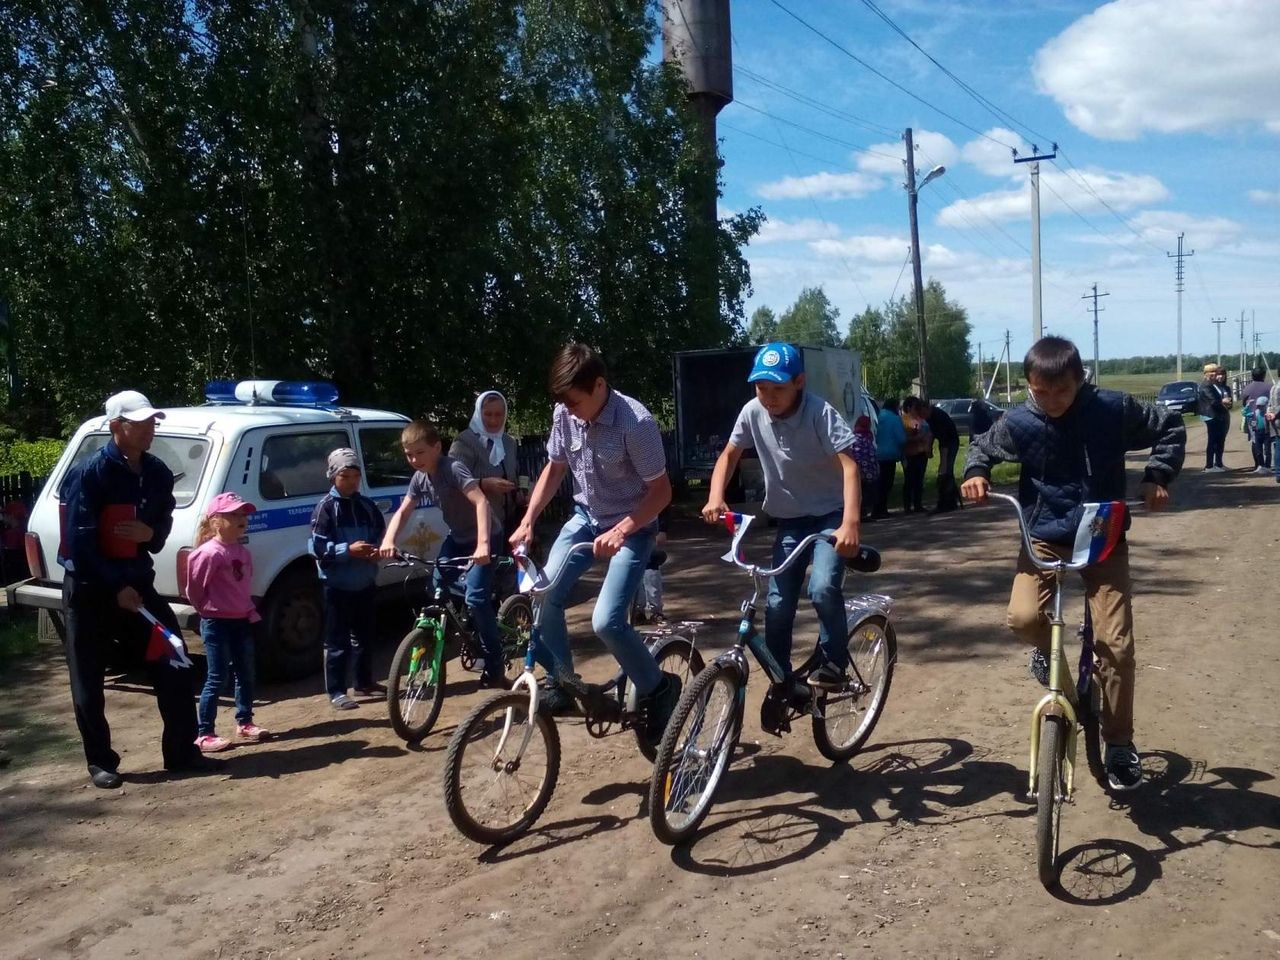
[[[713,663],[671,716],[649,781],[649,823],[663,844],[689,840],[710,812],[741,732],[741,684],[737,669]]]

